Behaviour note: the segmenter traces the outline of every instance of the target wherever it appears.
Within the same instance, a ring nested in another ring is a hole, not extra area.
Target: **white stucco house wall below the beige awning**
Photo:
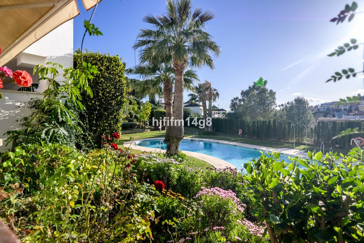
[[[31,54],[31,55],[29,55]],[[26,70],[30,74],[32,65],[30,64],[29,56],[32,55],[39,56],[39,60],[42,60],[41,57],[46,58],[46,62],[57,62],[60,63],[64,68],[73,66],[73,20],[67,21],[62,24],[55,30],[51,31],[43,38],[33,43],[27,49],[25,49],[19,56],[25,56],[26,58],[22,59],[22,66],[16,67],[15,60],[9,62],[9,67],[15,70]],[[26,60],[29,60],[27,64]],[[24,61],[25,60],[25,61]],[[25,62],[25,63],[24,63]],[[14,64],[15,63],[15,64]],[[43,64],[43,63],[39,63]],[[7,66],[6,64],[4,66]],[[29,70],[28,70],[29,69]],[[37,77],[33,77],[36,79]],[[57,81],[62,81],[62,77],[56,79]],[[35,81],[35,80],[34,80]],[[44,84],[47,85],[47,84]],[[43,85],[43,86],[44,86]],[[41,84],[42,86],[42,84]],[[19,87],[17,87],[19,88]],[[16,87],[14,88],[16,89]],[[4,90],[1,89],[0,92],[3,94],[3,99],[0,99],[0,151],[3,152],[10,145],[5,148],[4,140],[6,136],[3,134],[8,130],[19,129],[19,123],[21,118],[30,115],[32,111],[27,108],[28,105],[24,105],[24,102],[29,101],[30,98],[43,98],[43,93],[41,92],[24,92],[24,91],[16,91],[16,90]]]

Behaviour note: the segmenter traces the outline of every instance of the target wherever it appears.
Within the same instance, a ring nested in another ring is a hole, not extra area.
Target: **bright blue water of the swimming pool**
[[[160,141],[161,140],[144,140],[136,142],[136,145],[155,148],[155,144]],[[260,150],[258,149],[201,140],[193,141],[183,139],[181,144],[179,144],[179,149],[214,156],[235,165],[238,169],[243,168],[243,164],[247,161],[252,161],[253,158],[258,158],[260,156]],[[285,162],[289,162],[288,156],[285,154],[281,154],[280,160],[282,159],[284,159]]]

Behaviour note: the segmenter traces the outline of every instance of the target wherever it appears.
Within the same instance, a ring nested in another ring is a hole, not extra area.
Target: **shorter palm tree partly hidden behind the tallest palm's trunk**
[[[139,64],[134,67],[133,74],[138,74],[142,78],[150,80],[146,83],[146,87],[143,90],[163,90],[163,98],[166,106],[166,117],[173,117],[173,86],[174,86],[174,69],[169,64],[170,62],[165,62],[162,64]],[[187,70],[183,75],[184,87],[186,90],[193,90],[193,83],[198,80],[197,73],[194,70]],[[166,124],[166,134],[165,139],[170,137],[171,124],[167,122]],[[167,139],[168,140],[168,139]]]

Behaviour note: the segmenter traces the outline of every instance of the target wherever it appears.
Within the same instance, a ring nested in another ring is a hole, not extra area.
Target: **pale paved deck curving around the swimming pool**
[[[258,146],[258,145],[252,145],[252,144],[243,144],[240,142],[229,142],[229,141],[223,141],[223,140],[215,140],[215,139],[207,139],[207,138],[183,138],[186,140],[195,140],[195,141],[207,141],[207,142],[216,142],[216,143],[220,143],[220,144],[229,144],[229,145],[235,145],[235,146],[241,146],[241,147],[245,147],[245,148],[251,148],[251,149],[257,149],[257,150],[262,150],[265,152],[275,152],[275,153],[281,153],[281,154],[286,154],[288,156],[292,156],[292,157],[306,157],[307,158],[307,152],[304,150],[299,150],[299,149],[289,149],[289,148],[269,148],[269,147],[265,147],[265,146]],[[146,151],[146,152],[166,152],[166,150],[164,149],[159,149],[159,147],[157,147],[157,149],[155,148],[148,148],[148,147],[143,147],[143,146],[138,146],[135,143],[139,142],[139,141],[143,141],[143,140],[164,140],[163,137],[159,137],[159,138],[144,138],[144,139],[138,139],[138,140],[134,140],[134,141],[128,141],[128,142],[124,142],[123,146],[124,147],[129,147],[132,149],[138,149],[138,150],[142,150],[142,151]],[[197,152],[191,152],[191,151],[183,151],[183,153],[195,157],[195,158],[199,158],[200,160],[206,161],[207,163],[209,163],[210,165],[214,166],[215,168],[220,168],[223,169],[225,167],[232,167],[232,168],[236,168],[236,166],[230,164],[229,162],[225,161],[225,160],[221,160],[219,158],[207,155],[207,154],[202,154],[202,153],[197,153]]]

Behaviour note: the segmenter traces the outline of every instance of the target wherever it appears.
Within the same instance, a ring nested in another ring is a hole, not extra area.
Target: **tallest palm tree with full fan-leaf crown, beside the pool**
[[[166,13],[160,16],[147,15],[143,18],[152,24],[152,29],[141,30],[134,45],[141,48],[141,63],[163,63],[172,59],[174,84],[174,117],[183,121],[183,74],[186,67],[214,68],[211,55],[218,56],[219,46],[205,32],[207,21],[215,17],[210,11],[201,8],[192,11],[191,0],[167,0]],[[171,136],[165,138],[167,153],[178,154],[179,142],[183,138],[183,124],[171,127]]]

